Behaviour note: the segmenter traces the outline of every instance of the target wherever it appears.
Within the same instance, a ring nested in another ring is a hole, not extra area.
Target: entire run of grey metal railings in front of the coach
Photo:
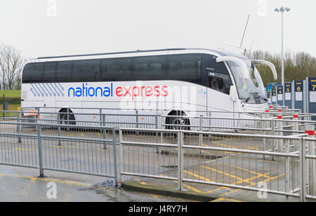
[[[0,164],[38,168],[40,176],[57,170],[110,177],[116,184],[124,177],[153,177],[177,181],[178,189],[191,182],[260,191],[264,183],[268,193],[287,200],[316,199],[316,122],[305,115],[138,113],[106,119],[104,113],[82,113],[72,119],[70,111],[12,113],[0,119]],[[190,130],[167,118],[190,119]]]

